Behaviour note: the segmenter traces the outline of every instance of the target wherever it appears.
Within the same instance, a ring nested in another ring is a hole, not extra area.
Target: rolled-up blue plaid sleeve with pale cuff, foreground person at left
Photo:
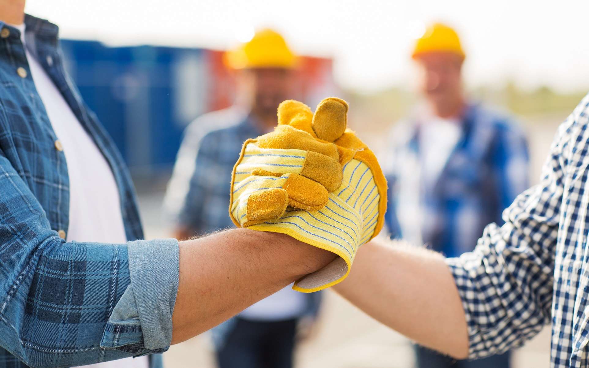
[[[1,150],[0,188],[0,348],[70,367],[170,346],[176,240],[63,240]]]

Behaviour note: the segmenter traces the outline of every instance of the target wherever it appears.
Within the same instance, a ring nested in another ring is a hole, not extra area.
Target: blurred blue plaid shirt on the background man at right
[[[485,225],[502,224],[501,212],[528,188],[527,144],[507,118],[469,105],[454,150],[439,175],[426,180],[419,138],[422,125],[428,124],[425,119],[393,130],[396,144],[384,160],[386,224],[394,238],[459,256],[474,248]]]

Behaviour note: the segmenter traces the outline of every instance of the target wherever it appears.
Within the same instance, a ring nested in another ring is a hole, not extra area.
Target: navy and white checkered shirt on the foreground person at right
[[[551,366],[589,367],[589,95],[565,120],[541,183],[515,198],[505,224],[448,258],[472,358],[521,346],[552,324]]]

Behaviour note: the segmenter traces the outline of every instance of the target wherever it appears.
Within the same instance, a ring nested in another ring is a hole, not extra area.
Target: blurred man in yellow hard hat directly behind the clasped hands
[[[297,98],[297,57],[272,29],[227,51],[223,61],[237,82],[233,107],[192,122],[178,151],[166,206],[174,237],[234,227],[227,213],[231,171],[245,140],[272,131],[280,102]],[[220,368],[290,368],[295,333],[317,315],[320,293],[286,287],[213,330]]]

